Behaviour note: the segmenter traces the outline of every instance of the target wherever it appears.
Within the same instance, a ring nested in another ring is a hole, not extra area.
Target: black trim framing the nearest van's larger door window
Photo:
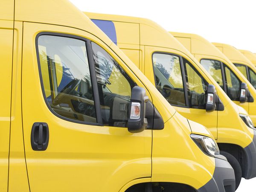
[[[56,113],[55,111],[52,110],[51,106],[49,105],[49,103],[47,101],[47,97],[45,95],[44,83],[43,83],[43,78],[42,78],[42,73],[41,73],[41,64],[40,64],[39,49],[38,49],[38,38],[41,35],[51,35],[51,36],[58,36],[58,37],[73,38],[73,39],[77,39],[77,40],[81,40],[81,41],[85,42],[89,70],[90,70],[90,78],[91,78],[91,83],[92,83],[92,88],[93,88],[93,99],[94,99],[94,107],[95,107],[95,112],[96,112],[96,123],[83,122],[83,121],[79,121],[79,120],[69,119],[67,117],[59,115],[58,113]],[[91,41],[89,39],[86,39],[86,38],[83,38],[83,37],[80,37],[77,35],[70,35],[70,34],[64,34],[64,33],[58,33],[58,32],[39,32],[35,37],[35,49],[36,49],[36,58],[37,58],[37,63],[38,63],[38,73],[39,73],[39,78],[40,78],[40,83],[41,83],[41,91],[44,96],[44,102],[46,103],[47,107],[49,108],[49,111],[51,111],[55,116],[57,116],[60,119],[69,121],[69,122],[74,122],[74,123],[79,123],[79,124],[84,124],[84,125],[103,126],[100,102],[99,102],[98,87],[97,87],[97,80],[96,80],[96,73],[95,73],[95,66],[94,66],[94,60],[93,60],[93,52],[92,52],[92,47],[90,45],[90,42]]]

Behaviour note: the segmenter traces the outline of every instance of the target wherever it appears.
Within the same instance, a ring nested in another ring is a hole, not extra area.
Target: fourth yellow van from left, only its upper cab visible
[[[212,43],[239,69],[256,89],[256,67],[238,49],[228,44]]]

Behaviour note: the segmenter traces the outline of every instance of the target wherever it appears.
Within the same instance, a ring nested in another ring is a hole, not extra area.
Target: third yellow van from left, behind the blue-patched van
[[[256,98],[256,90],[232,61],[212,43],[199,35],[177,32],[171,33],[185,47],[187,45],[184,44],[183,41],[190,42],[190,52],[192,55],[194,55],[203,67],[216,79],[230,99],[249,113],[250,119],[253,124],[256,125],[256,100],[254,99]],[[240,52],[237,54],[240,54]],[[240,56],[243,55],[240,54]],[[247,62],[250,61],[247,60]],[[247,120],[250,121],[250,119]]]

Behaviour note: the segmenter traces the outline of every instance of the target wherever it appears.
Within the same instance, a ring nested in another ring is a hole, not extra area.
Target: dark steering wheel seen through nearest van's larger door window
[[[53,99],[52,105],[58,105],[66,94],[72,93],[81,82],[81,79],[73,79],[70,81],[58,95]],[[71,86],[71,87],[70,87]],[[69,88],[70,87],[70,88]]]

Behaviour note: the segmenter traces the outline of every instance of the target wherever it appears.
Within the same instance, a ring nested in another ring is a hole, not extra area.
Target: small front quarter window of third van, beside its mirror
[[[241,83],[240,80],[237,78],[235,73],[233,73],[233,71],[230,70],[230,68],[227,67],[225,64],[224,72],[227,85],[227,95],[230,97],[231,100],[239,101]]]

